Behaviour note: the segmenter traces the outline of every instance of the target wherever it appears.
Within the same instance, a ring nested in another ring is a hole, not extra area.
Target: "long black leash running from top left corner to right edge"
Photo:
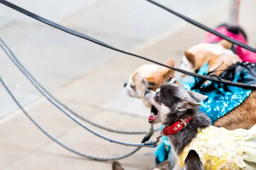
[[[232,85],[232,86],[235,86],[235,87],[242,87],[242,88],[244,88],[244,89],[256,90],[256,86],[246,85],[246,84],[244,84],[244,83],[232,82],[232,81],[223,80],[223,79],[218,80],[218,79],[215,78],[215,77],[200,75],[200,74],[197,74],[197,73],[194,73],[194,72],[189,72],[189,71],[185,71],[185,70],[182,70],[182,69],[179,69],[179,68],[175,68],[175,67],[171,67],[171,66],[168,66],[168,65],[164,65],[164,64],[162,64],[162,63],[160,63],[160,62],[157,62],[157,61],[148,59],[148,58],[146,58],[146,57],[143,57],[143,56],[140,56],[140,55],[136,55],[136,54],[133,54],[133,53],[131,53],[131,52],[126,52],[126,51],[124,51],[124,50],[120,50],[120,49],[115,48],[115,47],[113,47],[113,46],[110,46],[110,45],[108,45],[108,44],[106,44],[106,43],[104,43],[104,42],[102,42],[102,41],[100,41],[100,40],[97,40],[97,39],[92,38],[92,37],[90,37],[90,36],[88,36],[88,35],[85,35],[85,34],[83,34],[83,33],[81,33],[81,32],[77,32],[77,31],[75,31],[75,30],[71,30],[71,29],[69,29],[69,28],[67,28],[67,27],[64,27],[64,26],[59,25],[59,24],[57,24],[57,23],[54,23],[54,22],[52,22],[52,21],[50,21],[50,20],[47,20],[47,19],[45,19],[45,18],[42,18],[42,17],[39,16],[39,15],[36,15],[36,14],[34,14],[34,13],[31,13],[30,11],[25,10],[25,9],[23,9],[23,8],[21,8],[21,7],[17,6],[17,5],[15,5],[15,4],[11,3],[11,2],[8,2],[8,1],[6,1],[6,0],[0,0],[0,3],[2,3],[3,5],[6,5],[6,6],[10,7],[10,8],[12,8],[12,9],[14,9],[14,10],[20,12],[20,13],[23,13],[23,14],[25,14],[25,15],[31,17],[31,18],[34,18],[34,19],[36,19],[36,20],[38,20],[38,21],[40,21],[40,22],[42,22],[42,23],[45,23],[45,24],[47,24],[47,25],[50,25],[50,26],[52,26],[52,27],[54,27],[54,28],[57,28],[57,29],[62,30],[62,31],[64,31],[64,32],[67,32],[67,33],[69,33],[69,34],[75,35],[75,36],[77,36],[77,37],[81,37],[81,38],[83,38],[83,39],[89,40],[89,41],[91,41],[91,42],[94,42],[94,43],[96,43],[96,44],[98,44],[98,45],[107,47],[107,48],[109,48],[109,49],[112,49],[112,50],[115,50],[115,51],[118,51],[118,52],[121,52],[121,53],[124,53],[124,54],[127,54],[127,55],[132,55],[132,56],[134,56],[134,57],[138,57],[138,58],[141,58],[141,59],[143,59],[143,60],[147,60],[147,61],[149,61],[149,62],[153,62],[153,63],[155,63],[155,64],[158,64],[158,65],[167,67],[167,68],[169,68],[169,69],[172,69],[172,70],[175,70],[175,71],[178,71],[178,72],[182,72],[182,73],[184,73],[184,74],[186,74],[186,75],[191,75],[191,76],[193,76],[193,77],[198,77],[198,78],[202,78],[202,79],[205,79],[205,80],[210,80],[210,81],[218,82],[218,83],[224,83],[224,84]],[[222,35],[222,36],[224,36],[224,35]],[[234,43],[235,43],[235,42],[234,42]],[[241,44],[241,46],[242,46],[242,45],[243,45],[243,44]],[[255,50],[255,51],[256,51],[256,50]]]

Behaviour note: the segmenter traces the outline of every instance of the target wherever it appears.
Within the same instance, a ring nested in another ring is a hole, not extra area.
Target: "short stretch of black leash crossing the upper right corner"
[[[152,4],[154,4],[154,5],[158,6],[158,7],[161,7],[162,9],[164,9],[164,10],[166,10],[166,11],[168,11],[168,12],[174,14],[174,15],[176,15],[177,17],[182,18],[183,20],[187,21],[188,23],[191,23],[191,24],[193,24],[193,25],[195,25],[195,26],[197,26],[197,27],[199,27],[199,28],[201,28],[201,29],[203,29],[203,30],[205,30],[207,32],[210,32],[210,33],[212,33],[214,35],[217,35],[218,37],[223,38],[224,40],[232,42],[233,44],[236,44],[236,45],[238,45],[240,47],[243,47],[243,48],[245,48],[247,50],[250,50],[252,52],[256,52],[256,48],[250,47],[249,45],[246,45],[246,44],[244,44],[242,42],[239,42],[238,40],[234,40],[234,39],[232,39],[232,38],[230,38],[230,37],[228,37],[226,35],[223,35],[220,32],[218,32],[216,30],[213,30],[213,29],[207,27],[206,25],[198,23],[197,21],[192,20],[191,18],[188,18],[188,17],[186,17],[186,16],[184,16],[184,15],[182,15],[180,13],[177,13],[176,11],[170,9],[169,7],[166,7],[166,6],[156,2],[154,0],[146,0],[146,1],[151,2]]]

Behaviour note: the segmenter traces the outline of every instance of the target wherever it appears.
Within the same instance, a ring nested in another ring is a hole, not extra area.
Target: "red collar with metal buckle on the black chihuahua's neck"
[[[186,127],[187,123],[192,119],[192,117],[187,117],[186,119],[178,119],[177,122],[174,122],[174,124],[168,126],[164,126],[164,128],[161,131],[161,135],[164,136],[171,136],[174,133],[177,133],[179,130],[182,130]]]

